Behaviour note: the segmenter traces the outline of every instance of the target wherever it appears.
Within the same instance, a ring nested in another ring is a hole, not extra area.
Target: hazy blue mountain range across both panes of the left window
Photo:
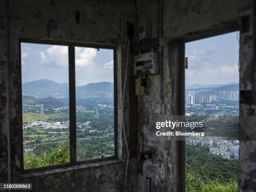
[[[113,92],[114,84],[111,82],[89,83],[76,87],[77,97],[97,96],[98,92]],[[69,95],[69,84],[59,83],[50,79],[40,79],[22,84],[22,95],[32,97],[54,97]]]

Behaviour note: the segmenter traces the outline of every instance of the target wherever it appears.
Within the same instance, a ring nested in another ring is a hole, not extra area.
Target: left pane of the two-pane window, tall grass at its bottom
[[[68,47],[21,43],[23,165],[69,162]]]

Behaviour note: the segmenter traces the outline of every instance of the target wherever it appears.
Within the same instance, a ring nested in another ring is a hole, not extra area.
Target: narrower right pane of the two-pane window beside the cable
[[[75,47],[77,161],[114,155],[113,54]]]

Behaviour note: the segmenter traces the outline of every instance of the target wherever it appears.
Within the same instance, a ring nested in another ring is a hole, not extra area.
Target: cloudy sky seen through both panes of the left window
[[[112,49],[75,47],[76,86],[113,82]],[[69,82],[68,46],[21,43],[22,82]]]

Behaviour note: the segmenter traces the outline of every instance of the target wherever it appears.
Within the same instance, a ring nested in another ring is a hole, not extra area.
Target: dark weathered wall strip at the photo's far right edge
[[[240,94],[250,93],[251,97],[240,103],[240,123],[245,131],[256,129],[256,3],[241,9],[240,31]],[[248,16],[248,22],[246,22]],[[246,122],[245,122],[246,121]],[[255,132],[255,131],[253,131]],[[256,191],[256,141],[242,141],[239,151],[239,190]]]

